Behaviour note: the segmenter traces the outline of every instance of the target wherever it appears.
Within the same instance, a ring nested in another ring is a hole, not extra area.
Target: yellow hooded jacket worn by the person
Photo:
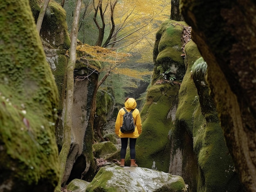
[[[136,109],[137,103],[136,103],[135,99],[129,98],[124,103],[124,106],[125,106],[125,108],[128,112],[130,112],[132,109],[135,109],[132,112],[132,117],[133,117],[134,122],[135,122],[135,131],[132,132],[132,133],[122,133],[121,132],[120,128],[123,124],[123,117],[124,117],[124,114],[125,114],[124,109],[121,108],[119,110],[118,114],[117,114],[117,120],[116,120],[116,124],[115,124],[115,133],[120,138],[124,138],[124,137],[137,138],[137,137],[139,137],[139,135],[142,132],[142,125],[141,125],[141,118],[140,118],[140,115],[139,115],[139,110]]]

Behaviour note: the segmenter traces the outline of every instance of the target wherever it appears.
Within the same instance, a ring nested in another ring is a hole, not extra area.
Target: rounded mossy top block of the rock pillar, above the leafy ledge
[[[185,74],[182,33],[185,22],[175,20],[164,21],[156,34],[153,51],[155,64],[153,81],[176,79],[182,80]]]

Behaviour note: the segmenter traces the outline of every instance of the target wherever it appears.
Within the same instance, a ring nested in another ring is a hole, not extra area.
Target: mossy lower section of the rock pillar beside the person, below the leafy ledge
[[[168,113],[177,98],[173,94],[178,90],[178,85],[171,84],[148,89],[146,104],[141,111],[142,134],[136,142],[136,161],[141,167],[152,168],[155,164],[157,170],[168,172],[171,150],[168,132],[173,125]]]

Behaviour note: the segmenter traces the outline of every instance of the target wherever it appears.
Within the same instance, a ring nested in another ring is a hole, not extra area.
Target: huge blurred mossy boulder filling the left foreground
[[[26,0],[0,2],[0,189],[53,191],[58,90]]]

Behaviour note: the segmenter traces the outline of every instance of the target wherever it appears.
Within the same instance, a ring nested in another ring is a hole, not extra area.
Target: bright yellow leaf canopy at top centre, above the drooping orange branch
[[[126,15],[129,15],[128,23],[124,31],[130,31],[134,28],[145,27],[132,34],[130,41],[136,40],[135,44],[125,48],[125,52],[136,52],[141,55],[137,62],[153,63],[153,46],[155,43],[155,34],[159,25],[170,18],[171,0],[119,0],[118,7],[115,9],[116,25],[124,22]]]

